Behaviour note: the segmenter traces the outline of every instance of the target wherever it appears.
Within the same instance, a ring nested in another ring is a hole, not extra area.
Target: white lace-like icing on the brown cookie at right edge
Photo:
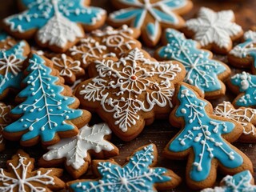
[[[243,134],[255,135],[255,127],[251,122],[255,118],[256,110],[249,107],[234,109],[230,102],[222,102],[214,108],[214,114],[240,123],[243,126]],[[246,130],[248,126],[250,130]]]

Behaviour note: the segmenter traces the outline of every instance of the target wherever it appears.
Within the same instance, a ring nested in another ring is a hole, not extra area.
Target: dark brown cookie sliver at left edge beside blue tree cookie
[[[5,149],[5,139],[2,136],[2,130],[10,123],[10,106],[0,102],[0,151]]]

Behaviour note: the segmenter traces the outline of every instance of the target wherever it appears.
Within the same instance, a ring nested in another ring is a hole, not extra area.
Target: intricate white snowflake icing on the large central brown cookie
[[[98,76],[87,85],[80,84],[77,95],[83,95],[87,101],[100,102],[103,110],[114,113],[114,123],[123,132],[138,123],[138,111],[146,113],[154,106],[173,106],[172,82],[178,81],[177,78],[182,80],[178,63],[151,61],[138,48],[118,62],[108,59],[95,63]],[[123,97],[124,94],[128,97]]]

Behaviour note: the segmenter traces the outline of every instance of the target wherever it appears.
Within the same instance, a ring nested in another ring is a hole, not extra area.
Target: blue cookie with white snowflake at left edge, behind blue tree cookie
[[[6,98],[10,89],[19,90],[22,81],[23,62],[30,52],[30,46],[21,41],[6,50],[5,34],[0,37],[0,99]]]

